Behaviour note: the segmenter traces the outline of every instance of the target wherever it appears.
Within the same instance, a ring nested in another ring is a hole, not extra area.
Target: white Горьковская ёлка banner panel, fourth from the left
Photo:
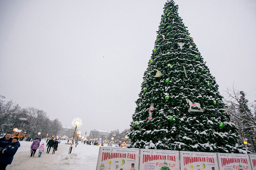
[[[252,170],[248,154],[218,153],[220,170]]]

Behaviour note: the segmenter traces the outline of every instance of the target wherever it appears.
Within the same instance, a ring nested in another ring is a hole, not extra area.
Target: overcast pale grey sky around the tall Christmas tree
[[[165,0],[1,0],[0,95],[81,130],[129,128]],[[176,0],[220,92],[256,99],[256,0]]]

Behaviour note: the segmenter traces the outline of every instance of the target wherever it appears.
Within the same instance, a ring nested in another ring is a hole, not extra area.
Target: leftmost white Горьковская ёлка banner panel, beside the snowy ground
[[[139,170],[139,149],[100,147],[96,170]]]

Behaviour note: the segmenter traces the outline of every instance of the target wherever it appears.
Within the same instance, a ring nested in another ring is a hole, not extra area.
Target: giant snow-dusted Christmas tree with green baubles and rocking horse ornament
[[[131,147],[243,152],[222,99],[178,5],[166,2],[132,116]]]

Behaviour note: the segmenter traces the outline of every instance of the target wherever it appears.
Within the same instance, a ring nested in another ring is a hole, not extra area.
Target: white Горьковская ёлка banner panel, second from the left
[[[179,151],[141,149],[140,170],[180,170]]]

